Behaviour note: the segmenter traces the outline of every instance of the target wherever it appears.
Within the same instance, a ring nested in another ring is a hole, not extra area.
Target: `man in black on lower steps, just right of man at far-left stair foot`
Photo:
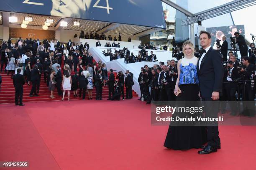
[[[33,66],[33,69],[31,70],[31,81],[32,81],[32,88],[30,91],[29,96],[33,97],[33,94],[35,94],[35,96],[39,96],[39,86],[40,86],[40,77],[39,74],[41,74],[40,70],[38,69],[38,66],[35,64]],[[36,91],[37,89],[37,91]]]

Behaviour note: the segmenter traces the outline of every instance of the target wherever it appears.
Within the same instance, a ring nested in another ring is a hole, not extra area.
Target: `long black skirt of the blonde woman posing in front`
[[[198,101],[199,88],[197,84],[180,85],[182,93],[177,96],[178,101]],[[175,115],[174,115],[175,116]],[[188,150],[199,148],[207,142],[205,126],[173,126],[170,123],[164,147],[174,150]]]

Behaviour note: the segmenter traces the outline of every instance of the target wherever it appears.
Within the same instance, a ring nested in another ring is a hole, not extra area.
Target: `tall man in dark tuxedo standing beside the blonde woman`
[[[221,54],[211,47],[211,35],[206,31],[200,32],[200,44],[203,54],[197,63],[197,74],[199,78],[200,95],[203,101],[219,100],[223,83],[223,62]],[[205,102],[205,117],[218,117],[218,106],[216,102]],[[210,110],[210,112],[209,112]],[[217,152],[220,149],[220,137],[218,122],[215,126],[207,126],[207,141],[205,148],[199,154]]]

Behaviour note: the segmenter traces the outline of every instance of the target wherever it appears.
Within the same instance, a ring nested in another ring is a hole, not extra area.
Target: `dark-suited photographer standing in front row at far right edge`
[[[241,69],[239,72],[244,75],[244,79],[246,81],[245,85],[245,100],[253,101],[255,96],[255,88],[251,86],[251,75],[255,71],[255,66],[250,63],[250,58],[248,56],[244,56],[242,59],[243,65],[246,66],[246,69]]]

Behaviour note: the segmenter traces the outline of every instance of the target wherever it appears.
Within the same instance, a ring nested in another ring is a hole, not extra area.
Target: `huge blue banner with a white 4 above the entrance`
[[[161,0],[0,0],[0,11],[166,28]]]

